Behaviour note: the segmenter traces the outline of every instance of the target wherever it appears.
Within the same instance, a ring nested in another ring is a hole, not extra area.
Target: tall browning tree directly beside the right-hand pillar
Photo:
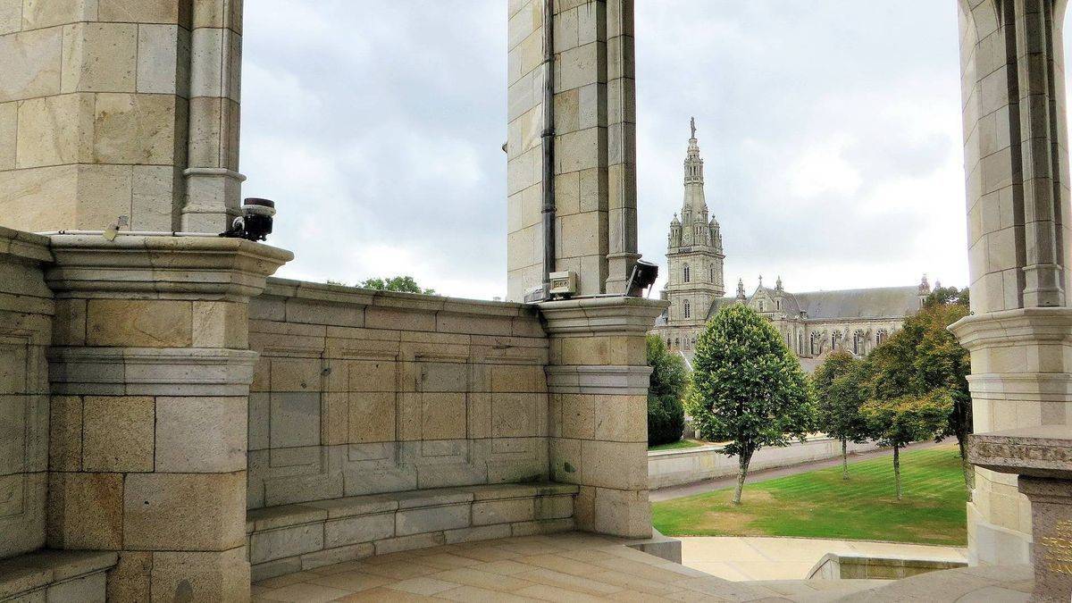
[[[956,437],[964,468],[965,487],[971,491],[971,466],[966,440],[971,433],[971,363],[949,325],[968,315],[968,290],[939,288],[924,302],[905,326],[867,357],[872,365],[868,397],[893,399],[923,397],[943,391],[952,400],[946,428],[938,438]]]

